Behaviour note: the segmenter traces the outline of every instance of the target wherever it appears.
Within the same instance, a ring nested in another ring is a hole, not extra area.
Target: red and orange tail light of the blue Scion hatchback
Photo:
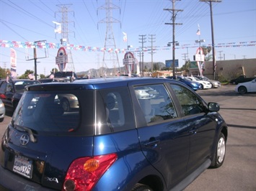
[[[110,168],[117,158],[117,154],[107,154],[74,160],[68,169],[62,190],[92,190],[102,174]]]

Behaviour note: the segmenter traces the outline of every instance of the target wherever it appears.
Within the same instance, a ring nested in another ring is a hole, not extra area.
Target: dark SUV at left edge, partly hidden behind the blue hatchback
[[[27,85],[39,83],[37,80],[15,79],[0,81],[0,98],[6,109],[14,111]]]

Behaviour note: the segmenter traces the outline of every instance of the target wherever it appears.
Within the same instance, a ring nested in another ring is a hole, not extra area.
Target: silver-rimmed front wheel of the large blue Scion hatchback
[[[225,139],[224,134],[221,133],[219,136],[219,139],[218,139],[218,143],[216,146],[215,154],[213,156],[213,160],[211,162],[211,167],[213,167],[213,168],[221,167],[221,165],[224,162],[225,155],[226,155],[226,139]]]

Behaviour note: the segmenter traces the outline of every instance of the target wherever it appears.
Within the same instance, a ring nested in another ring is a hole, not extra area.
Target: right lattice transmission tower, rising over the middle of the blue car
[[[113,23],[120,23],[118,19],[115,19],[112,17],[112,10],[113,9],[120,9],[118,6],[115,6],[115,4],[112,4],[112,0],[105,0],[105,4],[103,6],[100,6],[98,9],[104,9],[106,11],[106,17],[105,19],[102,19],[99,23],[106,23],[107,25],[107,30],[106,30],[106,36],[105,36],[105,52],[103,55],[103,64],[105,67],[107,65],[112,64],[112,66],[119,67],[120,70],[120,65],[119,65],[119,60],[118,60],[118,52],[115,52],[114,50],[116,49],[115,46],[115,37],[114,33],[112,31],[112,24]],[[107,52],[107,50],[112,50]]]

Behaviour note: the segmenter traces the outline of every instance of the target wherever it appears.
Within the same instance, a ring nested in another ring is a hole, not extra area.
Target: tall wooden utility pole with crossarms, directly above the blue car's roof
[[[181,9],[175,9],[175,1],[180,0],[172,0],[172,9],[164,9],[164,11],[172,11],[172,23],[165,23],[165,24],[172,24],[172,73],[175,77],[175,25],[181,23],[175,23],[175,18],[178,11],[183,11]]]

